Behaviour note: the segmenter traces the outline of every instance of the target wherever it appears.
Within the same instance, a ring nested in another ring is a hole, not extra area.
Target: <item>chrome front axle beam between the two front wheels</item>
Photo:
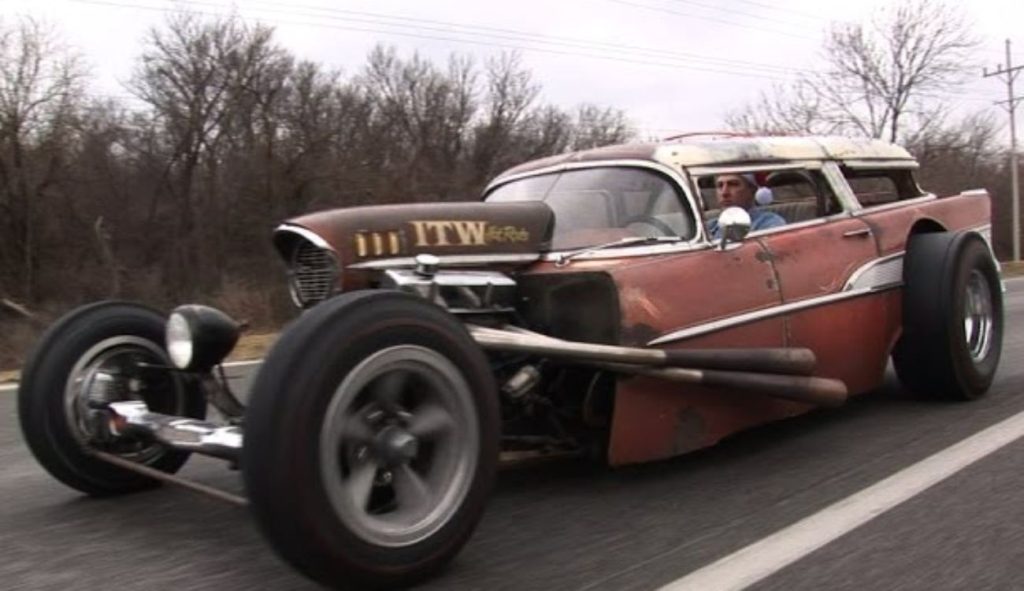
[[[238,461],[242,455],[242,428],[186,417],[151,413],[145,403],[126,400],[106,406],[113,435],[147,435],[175,450]]]

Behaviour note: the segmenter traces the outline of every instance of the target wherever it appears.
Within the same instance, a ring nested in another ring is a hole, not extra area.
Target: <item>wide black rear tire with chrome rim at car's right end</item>
[[[911,237],[903,282],[903,334],[893,351],[900,381],[923,397],[983,395],[999,363],[1004,322],[1001,283],[984,241],[968,231]]]

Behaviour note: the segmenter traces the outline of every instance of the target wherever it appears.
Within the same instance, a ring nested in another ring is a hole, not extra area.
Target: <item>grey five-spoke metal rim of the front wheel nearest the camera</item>
[[[382,349],[335,390],[319,434],[321,476],[338,517],[367,542],[407,546],[462,504],[476,469],[473,393],[447,357]]]

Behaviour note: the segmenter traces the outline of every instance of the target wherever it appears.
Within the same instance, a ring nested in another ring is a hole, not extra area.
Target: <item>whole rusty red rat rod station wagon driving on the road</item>
[[[923,396],[982,395],[989,197],[915,168],[877,140],[684,136],[527,163],[479,202],[302,216],[273,243],[304,311],[245,404],[226,314],[102,302],[31,355],[22,428],[79,491],[193,487],[247,503],[316,581],[410,584],[469,538],[501,460],[668,458],[841,405],[890,356]],[[722,175],[784,225],[719,211]],[[173,475],[189,453],[240,467],[246,498]]]

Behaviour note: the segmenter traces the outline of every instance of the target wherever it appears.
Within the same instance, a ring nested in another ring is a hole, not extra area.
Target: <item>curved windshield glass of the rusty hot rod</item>
[[[636,237],[693,238],[694,223],[678,187],[642,168],[567,170],[513,180],[488,202],[542,201],[555,212],[552,249],[586,248]]]

